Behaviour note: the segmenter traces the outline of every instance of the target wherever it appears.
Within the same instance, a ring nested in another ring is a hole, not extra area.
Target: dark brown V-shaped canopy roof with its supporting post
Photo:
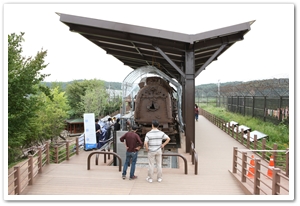
[[[187,151],[195,141],[195,78],[237,41],[254,21],[198,34],[153,29],[58,13],[70,31],[79,33],[132,69],[153,65],[183,86]],[[193,131],[193,133],[191,133]]]

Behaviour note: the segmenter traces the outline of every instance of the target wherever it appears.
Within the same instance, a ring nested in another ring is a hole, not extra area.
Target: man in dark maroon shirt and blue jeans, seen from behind
[[[132,163],[130,166],[129,180],[134,180],[137,178],[137,176],[134,175],[135,164],[136,164],[138,152],[141,146],[143,145],[140,136],[136,133],[137,129],[138,127],[136,125],[133,125],[131,131],[127,132],[122,137],[120,137],[120,141],[124,142],[124,145],[126,146],[126,160],[122,172],[123,180],[125,180],[126,178],[127,167],[130,162],[130,159],[132,159]]]

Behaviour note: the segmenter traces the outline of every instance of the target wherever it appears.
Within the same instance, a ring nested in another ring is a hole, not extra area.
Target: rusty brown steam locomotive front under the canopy
[[[176,92],[167,81],[160,77],[148,77],[139,83],[140,90],[135,97],[134,121],[139,126],[142,140],[151,130],[152,120],[157,119],[159,129],[169,135],[169,146],[180,147],[180,132],[177,121]]]

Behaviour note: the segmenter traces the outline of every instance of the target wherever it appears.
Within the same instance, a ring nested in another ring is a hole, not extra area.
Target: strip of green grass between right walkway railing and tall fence
[[[205,111],[223,119],[226,122],[235,121],[239,125],[246,125],[250,127],[252,131],[258,130],[269,136],[268,145],[276,143],[278,149],[289,148],[289,128],[283,122],[279,125],[275,125],[270,122],[264,122],[260,119],[250,116],[243,116],[237,113],[226,111],[225,108],[213,107],[207,105],[200,105]]]

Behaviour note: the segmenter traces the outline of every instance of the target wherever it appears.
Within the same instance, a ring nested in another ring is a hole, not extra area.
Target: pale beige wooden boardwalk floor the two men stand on
[[[81,151],[69,161],[45,166],[43,172],[34,179],[34,184],[27,186],[22,195],[16,198],[40,199],[37,195],[43,195],[42,200],[195,201],[216,200],[215,196],[219,196],[218,200],[242,200],[246,195],[229,170],[232,168],[233,147],[246,148],[201,115],[195,124],[198,175],[194,174],[190,154],[185,153],[184,139],[179,153],[188,160],[188,174],[184,174],[184,162],[179,158],[180,168],[163,168],[161,183],[155,178],[148,183],[147,168],[142,167],[136,168],[136,180],[122,180],[119,167],[105,166],[102,156],[99,165],[95,165],[94,155],[91,169],[87,170],[90,152]],[[246,197],[253,200],[253,196]]]

